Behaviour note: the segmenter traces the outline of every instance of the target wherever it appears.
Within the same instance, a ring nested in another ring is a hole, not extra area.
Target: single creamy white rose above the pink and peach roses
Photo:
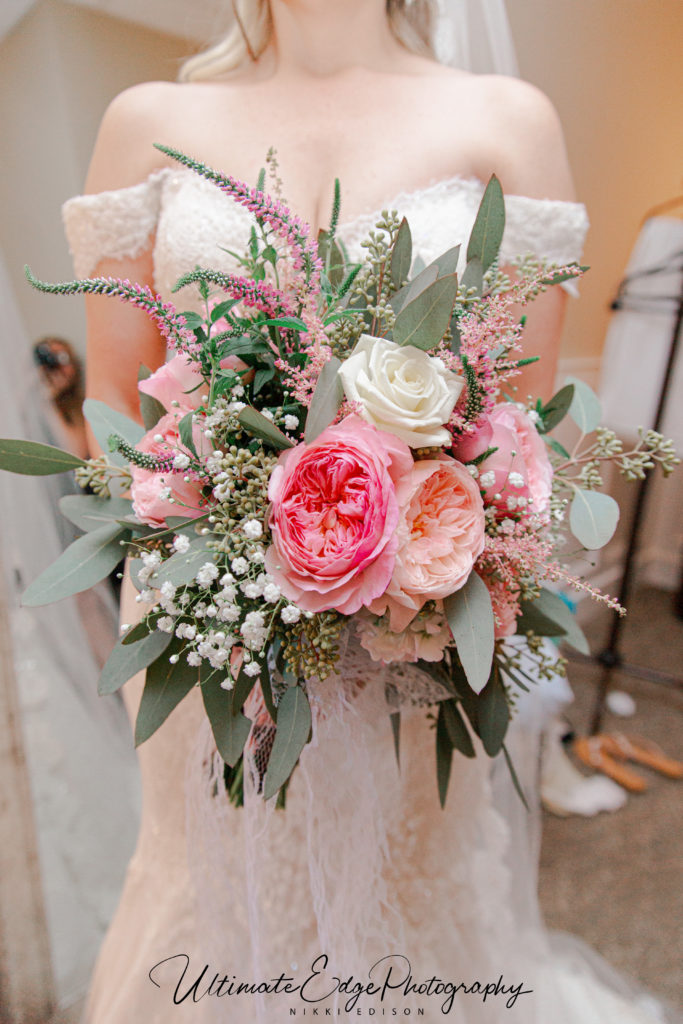
[[[360,335],[339,375],[349,401],[380,430],[388,430],[411,447],[446,444],[451,419],[465,386],[434,355],[413,345]]]

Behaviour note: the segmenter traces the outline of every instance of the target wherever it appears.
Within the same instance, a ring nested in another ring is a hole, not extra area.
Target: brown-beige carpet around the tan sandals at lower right
[[[683,678],[683,622],[673,595],[652,589],[631,601],[624,632],[627,660]],[[605,643],[607,621],[598,615],[589,639]],[[567,717],[586,733],[600,670],[570,665],[575,701]],[[604,729],[646,736],[683,760],[683,691],[614,676],[630,693],[633,718],[608,715]],[[637,769],[640,771],[640,769]],[[614,967],[675,1005],[683,1004],[683,782],[642,769],[648,790],[626,807],[595,818],[545,815],[541,900],[548,925],[586,939]]]

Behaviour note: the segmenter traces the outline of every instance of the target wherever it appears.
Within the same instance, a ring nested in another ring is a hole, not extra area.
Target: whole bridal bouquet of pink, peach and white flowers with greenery
[[[489,756],[505,751],[514,690],[529,682],[507,638],[527,638],[524,658],[541,673],[551,671],[541,637],[586,649],[546,585],[614,606],[558,553],[567,527],[582,553],[612,536],[618,508],[598,489],[603,463],[631,477],[655,463],[668,473],[673,449],[647,431],[625,452],[578,380],[545,404],[510,395],[531,361],[519,305],[583,268],[526,258],[513,278],[503,272],[495,177],[459,278],[460,247],[424,266],[393,212],[350,263],[336,237],[338,186],[330,228],[313,240],[280,198],[276,170],[270,197],[264,172],[251,188],[164,152],[251,212],[248,251],[233,254],[233,273],[188,268],[177,283],[199,288],[201,314],[128,281],[45,285],[28,271],[43,291],[142,308],[170,358],[140,368],[144,426],[86,401],[108,455],[0,441],[0,468],[75,469],[88,492],[61,499],[83,536],[24,601],[85,590],[127,555],[143,616],[123,628],[99,692],[146,671],[141,743],[199,686],[238,803],[255,746],[257,788],[282,802],[310,736],[309,680],[340,684],[345,643],[377,663],[414,663],[442,697],[443,801],[454,749],[474,756],[474,733]],[[566,414],[580,428],[571,453],[551,436]]]

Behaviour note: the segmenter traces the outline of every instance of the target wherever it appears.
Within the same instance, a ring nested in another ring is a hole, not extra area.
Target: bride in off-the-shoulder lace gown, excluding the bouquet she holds
[[[516,79],[437,62],[431,0],[246,0],[238,23],[188,62],[181,84],[137,86],[112,103],[87,194],[65,208],[80,276],[128,278],[169,297],[188,267],[229,269],[226,250],[244,248],[243,211],[169,166],[154,142],[247,181],[274,147],[288,205],[313,231],[339,177],[351,258],[390,207],[409,217],[426,261],[465,241],[493,172],[507,195],[504,257],[581,255],[586,214],[552,106]],[[554,289],[535,303],[526,344],[543,358],[521,396],[551,392],[565,299]],[[165,344],[132,307],[87,304],[88,394],[137,417],[137,370],[158,367]],[[133,595],[126,580],[126,623],[139,615]],[[537,818],[504,768],[456,755],[441,811],[417,707],[396,770],[385,679],[361,653],[349,644],[339,690],[357,684],[353,698],[316,723],[285,813],[222,799],[197,693],[141,746],[138,845],[87,1024],[276,1024],[326,1011],[464,1024],[663,1021],[651,1000],[617,993],[604,965],[544,931]],[[141,686],[126,687],[132,718]],[[514,757],[530,788],[539,728],[530,712],[520,719]],[[239,993],[240,982],[270,986]],[[382,997],[369,982],[386,986]]]

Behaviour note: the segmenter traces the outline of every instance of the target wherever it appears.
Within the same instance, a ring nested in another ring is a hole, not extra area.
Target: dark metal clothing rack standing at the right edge
[[[637,296],[630,292],[631,285],[639,279],[646,276],[651,278],[655,274],[664,274],[665,272],[671,273],[675,271],[682,273],[681,290],[678,295]],[[652,423],[653,430],[659,430],[664,422],[667,400],[669,398],[669,390],[681,340],[681,331],[683,327],[683,250],[674,254],[666,263],[647,267],[646,269],[637,271],[636,273],[625,278],[620,285],[616,297],[611,304],[611,309],[630,309],[633,311],[651,312],[653,309],[665,308],[666,304],[673,304],[673,308],[675,309],[675,318],[672,329],[671,342],[669,345],[667,366],[661,379],[656,413],[654,416],[654,422]],[[640,530],[643,523],[650,481],[651,474],[648,473],[645,475],[645,478],[640,480],[638,483],[638,494],[627,541],[626,557],[624,559],[622,583],[617,594],[617,600],[622,606],[626,606],[628,604],[633,588],[635,558],[638,551],[638,542],[640,539]],[[678,595],[676,607],[679,615],[683,617],[683,580],[681,581],[681,590]],[[648,682],[683,687],[683,678],[681,677],[673,676],[669,673],[657,672],[656,670],[646,666],[632,665],[624,660],[620,649],[620,642],[624,627],[625,621],[623,616],[617,612],[613,612],[607,643],[603,650],[592,658],[592,660],[595,660],[602,666],[603,670],[598,682],[595,706],[593,709],[593,717],[591,721],[592,735],[595,735],[595,733],[599,732],[601,729],[605,701],[611,686],[612,675],[614,672],[618,671],[638,679],[645,679]]]

